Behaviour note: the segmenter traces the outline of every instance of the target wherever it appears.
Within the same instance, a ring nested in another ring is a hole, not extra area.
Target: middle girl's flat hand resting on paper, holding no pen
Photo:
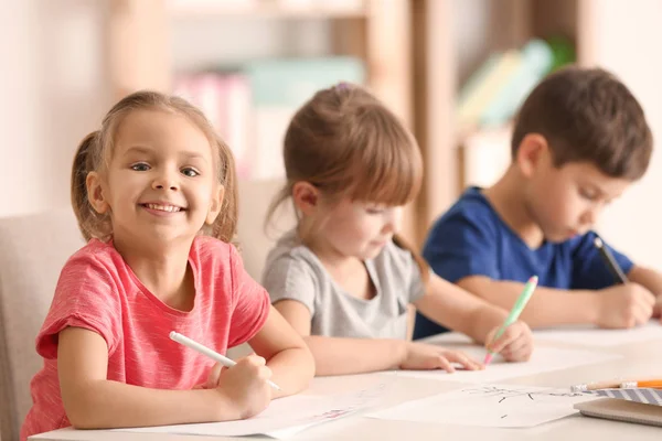
[[[460,351],[450,351],[444,347],[424,343],[406,342],[405,361],[401,369],[444,369],[453,373],[456,368],[451,363],[461,365],[467,370],[482,369],[484,366]]]

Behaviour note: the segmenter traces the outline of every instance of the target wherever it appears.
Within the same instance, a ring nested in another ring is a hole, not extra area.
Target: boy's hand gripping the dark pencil
[[[634,327],[653,315],[655,297],[641,284],[629,282],[601,290],[597,325],[600,327]]]

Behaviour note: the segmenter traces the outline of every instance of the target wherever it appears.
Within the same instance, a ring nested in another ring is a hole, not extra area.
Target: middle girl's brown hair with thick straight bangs
[[[409,130],[372,94],[346,83],[318,92],[297,111],[282,153],[287,183],[267,223],[299,181],[331,197],[404,205],[423,180],[420,151]]]

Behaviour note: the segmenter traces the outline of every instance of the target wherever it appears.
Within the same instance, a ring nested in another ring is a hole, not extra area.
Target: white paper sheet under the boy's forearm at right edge
[[[662,325],[658,320],[652,320],[643,326],[631,330],[601,330],[592,326],[564,326],[554,330],[536,330],[533,332],[533,336],[537,341],[608,347],[660,340],[662,338]]]

